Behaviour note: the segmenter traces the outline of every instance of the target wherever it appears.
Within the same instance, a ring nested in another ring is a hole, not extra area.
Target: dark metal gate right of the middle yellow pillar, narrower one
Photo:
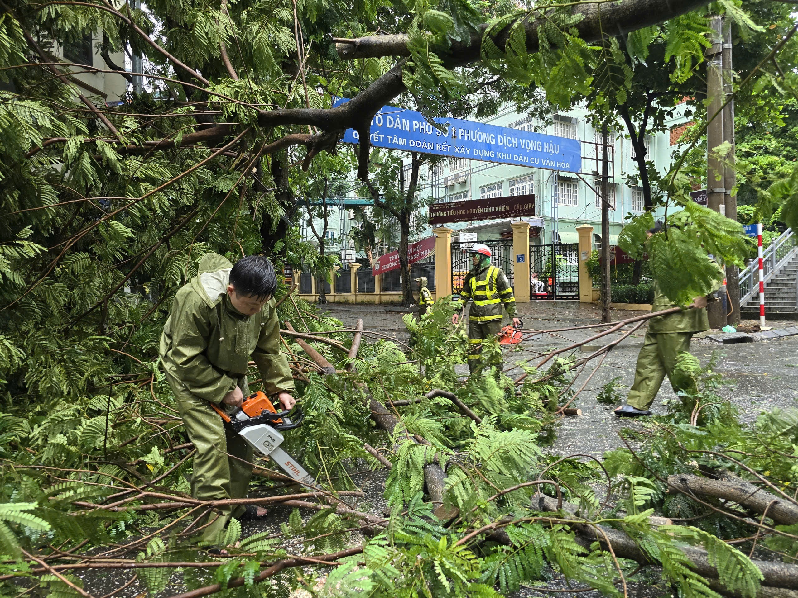
[[[529,246],[529,296],[579,299],[579,243]]]

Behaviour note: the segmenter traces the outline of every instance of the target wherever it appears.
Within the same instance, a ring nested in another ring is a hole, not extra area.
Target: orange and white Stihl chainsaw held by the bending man
[[[271,458],[300,484],[313,489],[318,487],[313,476],[307,473],[296,459],[280,448],[283,440],[280,431],[293,430],[301,426],[302,419],[305,419],[299,407],[295,407],[294,410],[277,411],[269,397],[260,391],[248,396],[241,407],[236,407],[230,413],[215,405],[212,407],[255,452]],[[293,421],[289,418],[291,411],[297,412]]]

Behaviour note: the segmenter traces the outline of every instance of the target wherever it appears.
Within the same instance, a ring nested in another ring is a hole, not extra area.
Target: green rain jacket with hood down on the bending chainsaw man
[[[247,394],[250,357],[267,395],[294,388],[288,360],[280,353],[275,299],[254,316],[240,313],[227,296],[231,268],[219,254],[204,255],[196,277],[176,293],[160,337],[167,374],[211,403],[221,403],[236,386]]]

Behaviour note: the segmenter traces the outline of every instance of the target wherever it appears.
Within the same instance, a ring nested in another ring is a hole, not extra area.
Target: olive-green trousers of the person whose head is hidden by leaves
[[[634,384],[626,403],[635,409],[648,411],[657,396],[662,380],[668,376],[674,391],[695,392],[695,382],[674,379],[674,366],[679,353],[689,351],[693,332],[648,332],[638,355]],[[691,388],[692,387],[692,388]]]

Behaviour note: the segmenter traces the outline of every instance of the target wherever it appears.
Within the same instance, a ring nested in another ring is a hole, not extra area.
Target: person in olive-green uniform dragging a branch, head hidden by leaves
[[[648,231],[648,236],[662,230],[662,222]],[[722,280],[722,277],[721,277]],[[710,293],[721,288],[721,280]],[[618,407],[618,417],[639,417],[651,415],[650,407],[654,403],[662,381],[668,376],[675,392],[695,393],[695,380],[689,376],[674,376],[676,360],[680,353],[689,351],[690,339],[696,332],[709,330],[709,317],[706,313],[708,297],[695,297],[693,303],[682,307],[678,313],[655,317],[649,322],[646,338],[638,355],[638,364],[634,372],[634,384],[629,390],[626,405]],[[662,294],[659,285],[654,281],[654,302],[652,312],[678,307]]]

